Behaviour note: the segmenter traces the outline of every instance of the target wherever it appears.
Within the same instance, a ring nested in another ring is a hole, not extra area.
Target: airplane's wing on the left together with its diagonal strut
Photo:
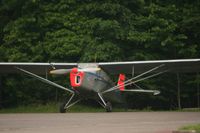
[[[55,67],[56,69],[70,69],[77,67],[77,63],[17,63],[17,62],[0,62],[0,74],[19,73],[20,71],[27,75],[36,78],[44,83],[55,86],[57,88],[66,90],[70,93],[74,93],[73,90],[56,84],[48,79],[45,79],[39,75],[46,75]]]

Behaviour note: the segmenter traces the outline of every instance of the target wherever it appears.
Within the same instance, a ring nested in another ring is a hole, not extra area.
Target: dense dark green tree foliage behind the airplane
[[[1,62],[200,57],[199,0],[1,0],[0,20]],[[46,103],[63,95],[23,77],[1,77],[1,106]],[[128,95],[130,107],[176,108],[176,80],[175,74],[166,74],[143,83],[162,94]],[[197,106],[198,80],[194,74],[181,75],[183,107]]]

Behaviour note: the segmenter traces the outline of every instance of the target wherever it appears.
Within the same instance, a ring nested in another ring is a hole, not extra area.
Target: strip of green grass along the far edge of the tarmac
[[[144,109],[128,109],[126,112],[151,112],[155,111],[147,107]],[[161,110],[158,110],[161,111]],[[163,110],[170,111],[170,110]],[[199,112],[199,109],[183,109],[183,110],[171,110],[172,112]],[[19,106],[13,108],[0,109],[0,113],[58,113],[59,104],[58,103],[49,103],[46,105],[28,105],[28,106]],[[100,106],[87,106],[83,104],[76,104],[75,106],[69,108],[67,112],[105,112],[105,109]],[[113,108],[113,112],[125,112],[124,108]]]

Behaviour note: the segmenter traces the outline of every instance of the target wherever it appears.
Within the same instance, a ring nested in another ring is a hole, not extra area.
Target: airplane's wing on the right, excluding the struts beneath
[[[130,62],[102,62],[98,64],[103,70],[110,74],[132,74],[143,73],[157,66],[159,69],[154,73],[168,70],[169,72],[200,72],[200,59],[176,59],[176,60],[149,60]]]

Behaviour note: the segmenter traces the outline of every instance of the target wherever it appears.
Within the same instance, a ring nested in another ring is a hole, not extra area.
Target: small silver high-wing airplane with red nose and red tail
[[[111,102],[122,102],[121,92],[144,92],[158,95],[159,90],[145,90],[137,83],[165,72],[199,72],[200,59],[100,63],[0,62],[0,74],[18,73],[19,71],[71,93],[69,100],[60,106],[61,113],[66,112],[68,108],[79,101],[89,98],[98,101],[107,112],[111,112]],[[108,73],[119,75],[117,84],[111,80]],[[61,86],[39,76],[48,74],[69,74],[71,88]],[[132,78],[126,79],[126,74],[132,75]],[[135,85],[136,88],[126,89],[125,87],[129,85]]]

